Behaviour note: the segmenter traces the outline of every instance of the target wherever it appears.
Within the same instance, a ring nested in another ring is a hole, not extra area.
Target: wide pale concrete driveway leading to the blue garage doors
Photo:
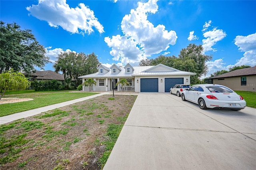
[[[202,110],[139,93],[104,170],[255,170],[256,109]]]

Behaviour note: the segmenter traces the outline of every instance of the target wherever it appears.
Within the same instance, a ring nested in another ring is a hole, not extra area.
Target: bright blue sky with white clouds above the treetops
[[[16,22],[47,50],[94,52],[100,63],[138,66],[203,45],[209,72],[256,65],[256,1],[0,0],[0,19]],[[45,70],[54,70],[48,63]]]

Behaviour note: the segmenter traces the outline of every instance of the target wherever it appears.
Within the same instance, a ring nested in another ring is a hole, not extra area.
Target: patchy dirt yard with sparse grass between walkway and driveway
[[[108,124],[124,124],[136,97],[103,95],[2,125],[1,128],[16,123],[9,130],[0,130],[2,146],[25,133],[28,142],[15,146],[21,151],[12,154],[13,160],[1,163],[0,169],[100,170],[98,159],[106,148]],[[28,124],[35,121],[43,125],[33,128]],[[10,149],[0,150],[0,158],[8,156]]]

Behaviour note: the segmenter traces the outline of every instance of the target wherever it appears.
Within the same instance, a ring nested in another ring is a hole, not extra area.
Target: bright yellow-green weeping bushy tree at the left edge
[[[28,81],[24,74],[14,71],[14,69],[4,71],[3,73],[0,73],[0,89],[1,92],[4,90],[0,95],[0,100],[6,90],[26,89],[29,86],[30,81]]]

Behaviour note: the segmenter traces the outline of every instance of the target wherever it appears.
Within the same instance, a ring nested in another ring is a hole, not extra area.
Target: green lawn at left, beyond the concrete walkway
[[[4,94],[4,97],[32,98],[34,100],[2,104],[0,105],[0,117],[95,94],[98,93],[69,93],[69,91],[42,92],[34,90],[9,91]]]

